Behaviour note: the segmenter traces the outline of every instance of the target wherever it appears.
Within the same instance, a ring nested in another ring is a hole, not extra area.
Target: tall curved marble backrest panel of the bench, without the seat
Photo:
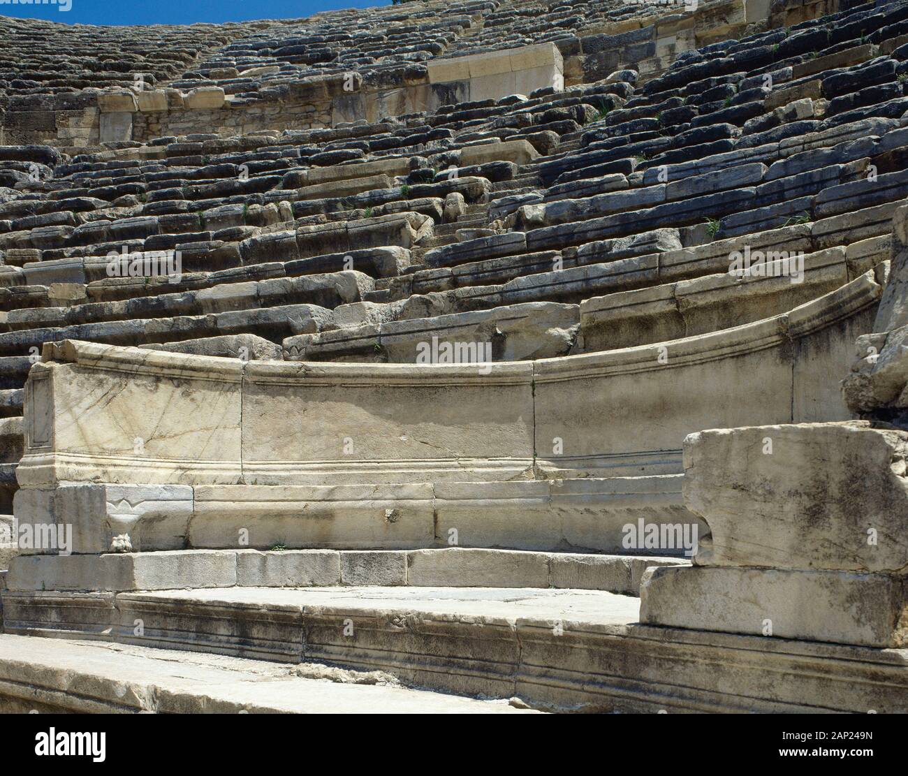
[[[637,348],[486,365],[212,359],[65,341],[26,385],[23,487],[306,485],[681,473],[687,434],[849,417],[880,286]]]

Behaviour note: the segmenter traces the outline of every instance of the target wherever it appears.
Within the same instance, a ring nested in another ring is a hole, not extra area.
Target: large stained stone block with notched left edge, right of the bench
[[[712,532],[697,565],[908,570],[908,431],[865,422],[701,431],[687,506]]]

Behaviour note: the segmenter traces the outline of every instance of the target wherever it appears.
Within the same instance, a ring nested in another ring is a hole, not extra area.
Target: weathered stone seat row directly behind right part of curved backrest
[[[548,294],[502,292],[494,306],[489,305],[488,299],[461,300],[439,293],[429,294],[421,305],[416,304],[418,297],[397,305],[342,305],[334,311],[339,328],[285,339],[284,357],[418,363],[425,355],[421,349],[432,341],[488,341],[490,358],[519,360],[629,348],[707,334],[725,329],[731,321],[742,325],[783,314],[798,304],[844,288],[874,266],[880,275],[876,282],[882,284],[888,241],[888,235],[883,235],[864,241],[866,244],[856,243],[859,256],[849,256],[844,247],[809,253],[804,256],[795,281],[783,259],[770,262],[765,275],[736,279],[722,271],[662,285],[643,285],[634,279],[636,282],[632,280],[630,285],[640,284],[637,290],[614,291],[600,297],[587,296],[596,292],[594,283],[588,283],[586,290],[575,292],[574,299],[582,300],[579,305],[525,301],[558,299],[551,289]],[[774,268],[779,272],[775,273]],[[613,287],[619,287],[619,283]],[[431,317],[415,319],[420,308]]]

